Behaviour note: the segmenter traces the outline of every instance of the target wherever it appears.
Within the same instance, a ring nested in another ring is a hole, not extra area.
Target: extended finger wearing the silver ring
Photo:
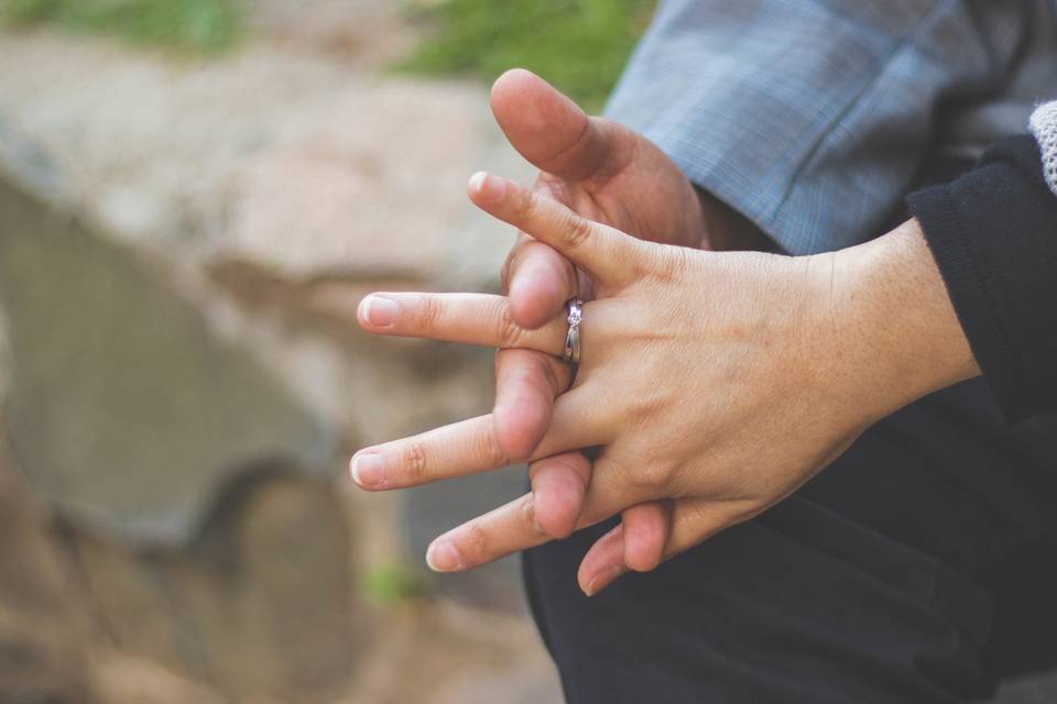
[[[379,334],[525,348],[556,356],[568,330],[560,316],[536,329],[522,328],[506,298],[489,294],[371,294],[360,301],[357,319]]]

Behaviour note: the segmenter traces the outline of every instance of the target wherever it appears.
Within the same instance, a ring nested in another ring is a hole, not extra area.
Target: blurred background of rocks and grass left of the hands
[[[393,495],[356,449],[490,408],[377,288],[498,289],[526,66],[597,110],[646,0],[0,0],[0,702],[558,702],[516,560],[429,539],[523,469]],[[575,579],[570,574],[569,579]]]

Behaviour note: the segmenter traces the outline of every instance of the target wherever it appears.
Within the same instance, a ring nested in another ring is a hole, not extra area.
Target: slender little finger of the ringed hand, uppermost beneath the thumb
[[[595,280],[621,285],[634,275],[634,258],[642,255],[639,240],[492,174],[475,174],[468,190],[479,208],[549,244]]]

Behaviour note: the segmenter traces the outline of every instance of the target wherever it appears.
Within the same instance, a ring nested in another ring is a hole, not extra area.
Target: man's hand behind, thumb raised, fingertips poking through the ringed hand
[[[579,216],[639,238],[704,248],[706,210],[693,185],[653,143],[614,122],[589,118],[575,102],[526,70],[495,81],[492,111],[510,143],[541,169],[534,193]],[[717,213],[719,213],[717,209]],[[520,234],[503,265],[509,315],[521,328],[540,328],[574,295],[590,299],[590,280],[551,246]],[[554,399],[569,371],[554,356],[524,349],[497,355],[494,435],[502,452],[524,459],[551,424]],[[553,538],[576,526],[590,480],[581,452],[530,466],[538,529]],[[650,570],[661,559],[668,508],[650,502],[623,513],[623,550],[630,569]]]

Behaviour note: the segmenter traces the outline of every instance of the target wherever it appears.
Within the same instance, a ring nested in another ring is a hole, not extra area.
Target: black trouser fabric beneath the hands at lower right
[[[979,701],[1057,666],[1057,422],[981,380],[869,429],[793,497],[588,598],[612,522],[524,554],[567,701]]]

